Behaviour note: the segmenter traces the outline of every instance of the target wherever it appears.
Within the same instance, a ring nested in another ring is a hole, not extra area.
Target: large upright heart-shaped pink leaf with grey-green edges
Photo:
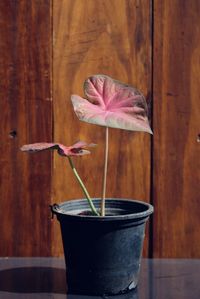
[[[72,95],[77,117],[85,122],[152,134],[144,96],[135,88],[105,75],[94,75],[84,83],[86,99]]]

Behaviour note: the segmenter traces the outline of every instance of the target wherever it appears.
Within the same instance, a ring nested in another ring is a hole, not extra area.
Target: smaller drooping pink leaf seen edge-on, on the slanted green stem
[[[73,144],[72,146],[65,146],[60,143],[33,143],[33,144],[26,144],[21,147],[23,152],[40,152],[44,150],[57,150],[58,154],[61,156],[83,156],[90,154],[88,150],[85,150],[87,147],[95,146],[95,144],[87,144],[84,141],[78,141],[77,143]]]

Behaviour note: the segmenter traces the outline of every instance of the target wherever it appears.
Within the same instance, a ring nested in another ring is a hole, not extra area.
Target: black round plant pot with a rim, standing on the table
[[[93,203],[98,209],[100,199]],[[89,210],[85,199],[51,208],[61,225],[68,293],[111,295],[137,286],[150,204],[107,199],[105,217],[80,215]]]

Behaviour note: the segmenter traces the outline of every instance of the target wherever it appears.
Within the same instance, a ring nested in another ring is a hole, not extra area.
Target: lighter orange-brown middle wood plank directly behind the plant
[[[92,155],[75,160],[92,197],[101,196],[104,128],[80,123],[70,101],[83,95],[84,80],[103,73],[151,94],[151,1],[60,0],[53,3],[54,138],[66,145],[98,143]],[[150,136],[110,130],[107,197],[148,201]],[[53,202],[81,198],[67,161],[55,156]],[[53,255],[62,253],[54,224]],[[147,244],[146,244],[147,252]]]

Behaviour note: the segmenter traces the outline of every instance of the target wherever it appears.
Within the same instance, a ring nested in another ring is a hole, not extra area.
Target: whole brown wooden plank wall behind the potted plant
[[[104,73],[151,100],[154,130],[110,130],[107,196],[154,204],[145,256],[200,257],[199,13],[197,0],[0,1],[0,256],[61,255],[48,206],[82,197],[65,159],[21,145],[98,143],[75,164],[100,196],[104,129],[70,95]]]

